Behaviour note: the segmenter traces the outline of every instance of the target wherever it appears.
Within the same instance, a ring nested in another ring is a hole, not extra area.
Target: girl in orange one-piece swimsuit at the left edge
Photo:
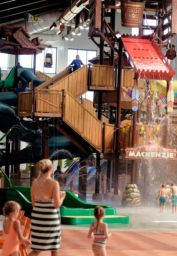
[[[3,214],[6,217],[3,222],[5,241],[3,244],[2,256],[18,256],[19,244],[24,242],[27,246],[31,241],[22,236],[20,222],[17,220],[20,204],[8,201],[3,207]]]

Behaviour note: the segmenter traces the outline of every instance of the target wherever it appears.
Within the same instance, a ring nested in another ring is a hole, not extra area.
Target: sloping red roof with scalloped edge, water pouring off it
[[[153,35],[121,35],[125,53],[141,79],[171,80],[175,71],[154,40]]]

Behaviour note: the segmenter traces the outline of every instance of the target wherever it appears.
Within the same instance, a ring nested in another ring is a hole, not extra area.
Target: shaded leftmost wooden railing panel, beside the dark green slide
[[[23,92],[18,95],[18,115],[32,116],[33,115],[33,91]]]

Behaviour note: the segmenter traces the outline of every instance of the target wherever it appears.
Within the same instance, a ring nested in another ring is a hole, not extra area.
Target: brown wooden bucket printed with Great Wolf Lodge
[[[145,3],[121,1],[121,23],[123,27],[140,28]]]

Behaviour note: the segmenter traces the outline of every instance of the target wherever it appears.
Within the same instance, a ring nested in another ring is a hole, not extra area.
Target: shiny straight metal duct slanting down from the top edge
[[[76,0],[72,5],[62,14],[59,19],[57,19],[50,26],[50,29],[56,29],[57,34],[60,34],[64,31],[64,26],[69,23],[80,11],[89,4],[89,0]]]

